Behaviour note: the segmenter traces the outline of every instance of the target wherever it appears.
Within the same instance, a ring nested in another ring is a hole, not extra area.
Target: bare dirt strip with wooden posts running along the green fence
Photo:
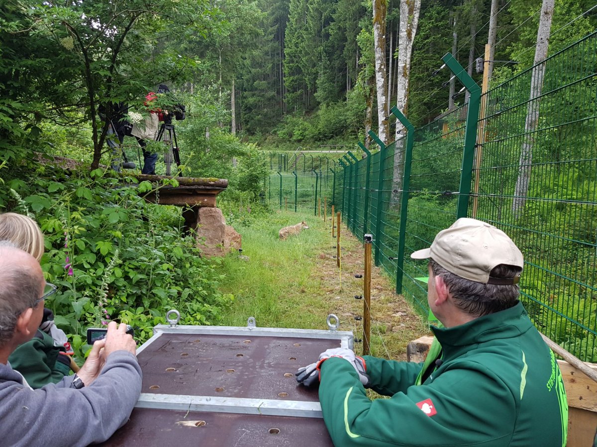
[[[328,227],[329,228],[329,227]],[[322,292],[333,302],[342,328],[350,327],[355,339],[362,339],[362,320],[355,316],[363,315],[364,300],[355,295],[364,294],[365,249],[344,225],[341,228],[341,271],[336,266],[336,239],[324,247],[318,256],[318,274]],[[428,334],[426,325],[410,308],[401,295],[396,295],[395,282],[390,280],[380,268],[371,268],[371,354],[397,360],[406,359],[406,345],[411,340]],[[361,352],[362,343],[355,343],[355,351]]]

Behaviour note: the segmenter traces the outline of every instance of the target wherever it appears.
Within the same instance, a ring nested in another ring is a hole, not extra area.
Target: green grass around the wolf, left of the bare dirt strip
[[[280,228],[303,220],[309,229],[278,239]],[[327,328],[330,305],[321,299],[321,280],[313,275],[316,253],[330,242],[323,219],[306,210],[275,212],[267,222],[236,226],[236,231],[249,259],[232,254],[223,261],[221,291],[235,295],[223,324],[244,326],[254,316],[260,327]]]

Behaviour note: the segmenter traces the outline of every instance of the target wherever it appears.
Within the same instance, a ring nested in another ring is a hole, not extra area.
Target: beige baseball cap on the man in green
[[[450,228],[440,231],[428,249],[411,254],[413,259],[432,258],[448,272],[484,284],[518,284],[514,278],[490,277],[500,264],[524,265],[522,253],[506,233],[487,222],[460,218]]]

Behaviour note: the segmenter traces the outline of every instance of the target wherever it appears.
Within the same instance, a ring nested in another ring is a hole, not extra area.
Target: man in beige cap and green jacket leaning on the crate
[[[458,219],[429,249],[428,302],[443,327],[424,365],[328,350],[316,382],[337,446],[564,446],[568,407],[553,353],[518,300],[522,253],[496,227]],[[432,351],[433,351],[432,350]],[[389,399],[367,398],[370,388]]]

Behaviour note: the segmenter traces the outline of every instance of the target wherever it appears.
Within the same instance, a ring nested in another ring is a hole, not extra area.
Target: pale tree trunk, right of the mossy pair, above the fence
[[[417,33],[418,15],[421,11],[421,0],[400,1],[400,33],[398,37],[398,66],[396,73],[396,107],[407,115],[408,78],[413,54],[413,41]],[[407,115],[408,116],[408,115]],[[396,139],[402,132],[402,125],[396,124]]]

